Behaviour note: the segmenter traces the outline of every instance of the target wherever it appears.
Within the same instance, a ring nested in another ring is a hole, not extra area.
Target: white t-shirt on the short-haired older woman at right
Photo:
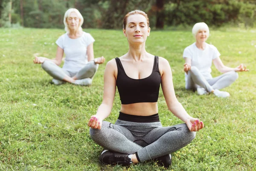
[[[212,78],[212,60],[218,58],[220,55],[218,49],[208,43],[206,43],[204,50],[198,49],[195,43],[193,43],[187,46],[183,52],[183,58],[191,58],[191,66],[197,67],[206,79]],[[185,72],[185,81],[187,81],[187,76]]]

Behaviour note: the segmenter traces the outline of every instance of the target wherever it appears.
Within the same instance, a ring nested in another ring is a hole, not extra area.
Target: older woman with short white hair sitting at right
[[[196,42],[187,46],[183,52],[185,59],[185,88],[187,90],[197,90],[199,95],[213,93],[218,97],[229,97],[228,92],[220,91],[224,87],[230,86],[238,78],[238,71],[248,71],[243,64],[236,68],[226,67],[221,59],[218,49],[206,43],[209,37],[209,27],[206,23],[196,23],[193,26],[192,34]],[[224,73],[212,78],[212,61],[218,71]]]

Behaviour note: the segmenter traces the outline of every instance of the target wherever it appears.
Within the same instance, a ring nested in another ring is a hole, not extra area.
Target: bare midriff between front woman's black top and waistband
[[[136,116],[154,115],[158,113],[157,102],[121,104],[120,112]]]

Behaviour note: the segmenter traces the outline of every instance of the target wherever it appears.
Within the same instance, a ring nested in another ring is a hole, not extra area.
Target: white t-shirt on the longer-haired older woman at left
[[[67,33],[61,35],[56,44],[64,50],[66,55],[63,69],[70,72],[78,72],[88,63],[87,46],[93,43],[94,38],[87,32],[76,39],[68,37]]]

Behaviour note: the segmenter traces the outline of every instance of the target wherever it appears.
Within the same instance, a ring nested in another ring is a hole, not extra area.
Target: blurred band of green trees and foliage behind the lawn
[[[8,21],[10,1],[11,23]],[[191,26],[202,21],[209,26],[256,26],[255,0],[159,1],[163,2],[163,7],[157,6],[157,0],[22,0],[23,25],[35,28],[63,28],[64,13],[69,8],[76,8],[84,17],[83,28],[120,29],[124,15],[134,9],[143,10],[148,14],[152,29]],[[20,2],[21,0],[0,1],[0,26],[10,27],[21,23]],[[163,20],[164,27],[157,26],[157,20]]]

